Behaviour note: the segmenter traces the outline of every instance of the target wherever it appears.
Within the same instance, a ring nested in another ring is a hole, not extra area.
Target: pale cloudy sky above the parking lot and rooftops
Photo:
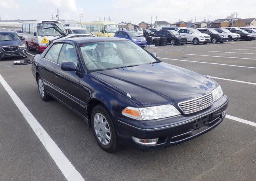
[[[167,21],[174,23],[192,20],[208,21],[226,18],[237,12],[239,18],[256,18],[256,0],[0,0],[1,20],[60,19],[81,22],[100,20],[112,22]]]

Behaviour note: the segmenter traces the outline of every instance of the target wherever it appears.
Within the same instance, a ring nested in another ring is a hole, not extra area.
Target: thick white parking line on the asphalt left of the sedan
[[[31,114],[28,108],[15,94],[12,88],[4,80],[2,75],[0,75],[0,83],[3,85],[6,92],[8,92],[13,102],[16,104],[36,136],[39,138],[40,142],[43,144],[44,148],[48,151],[56,165],[59,167],[60,171],[63,173],[64,177],[66,177],[68,181],[84,181],[82,175],[80,175],[80,173],[75,169],[72,163],[70,163],[68,158],[60,150],[60,148],[58,148],[52,138],[50,138],[44,128],[39,124],[39,122]]]

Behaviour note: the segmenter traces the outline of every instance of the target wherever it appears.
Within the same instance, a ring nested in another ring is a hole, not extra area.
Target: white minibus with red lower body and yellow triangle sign
[[[29,50],[34,49],[36,53],[42,53],[48,47],[49,41],[60,35],[53,28],[44,29],[52,23],[65,32],[62,22],[57,20],[39,20],[22,24],[22,37],[24,37],[24,43]]]

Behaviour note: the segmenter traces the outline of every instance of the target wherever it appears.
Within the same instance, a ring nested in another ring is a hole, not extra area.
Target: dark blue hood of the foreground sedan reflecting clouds
[[[92,72],[91,75],[129,93],[142,106],[174,104],[210,93],[212,79],[167,63]]]

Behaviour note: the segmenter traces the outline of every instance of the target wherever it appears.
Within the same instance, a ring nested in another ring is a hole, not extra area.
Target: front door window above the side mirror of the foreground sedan
[[[60,51],[58,64],[61,64],[63,62],[69,62],[69,61],[77,65],[76,52],[73,45],[64,44]]]

